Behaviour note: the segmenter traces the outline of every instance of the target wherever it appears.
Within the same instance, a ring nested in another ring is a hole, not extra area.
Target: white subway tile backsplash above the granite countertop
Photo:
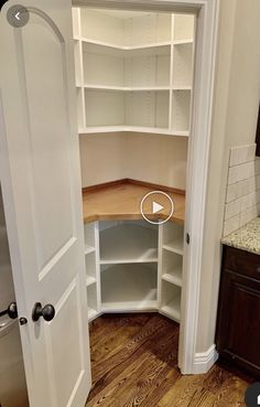
[[[260,158],[256,144],[230,149],[223,236],[260,215]]]

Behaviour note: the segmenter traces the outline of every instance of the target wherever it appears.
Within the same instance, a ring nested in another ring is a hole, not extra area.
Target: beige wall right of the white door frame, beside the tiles
[[[229,148],[252,143],[260,98],[260,1],[220,0],[196,352],[215,342]]]

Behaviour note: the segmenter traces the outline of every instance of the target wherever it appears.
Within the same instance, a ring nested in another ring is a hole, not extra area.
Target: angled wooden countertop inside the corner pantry
[[[115,219],[142,219],[140,204],[143,196],[151,191],[166,192],[174,202],[174,213],[170,221],[184,224],[185,216],[185,194],[183,192],[169,192],[163,186],[149,185],[142,182],[130,180],[116,183],[104,184],[100,186],[84,189],[83,191],[83,212],[84,223],[94,221],[115,221]],[[145,208],[145,214],[149,211]],[[149,218],[165,218],[169,214],[163,213],[152,215]]]

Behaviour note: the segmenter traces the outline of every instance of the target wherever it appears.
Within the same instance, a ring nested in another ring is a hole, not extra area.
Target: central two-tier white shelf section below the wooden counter
[[[100,222],[102,312],[158,308],[158,231],[145,222]]]

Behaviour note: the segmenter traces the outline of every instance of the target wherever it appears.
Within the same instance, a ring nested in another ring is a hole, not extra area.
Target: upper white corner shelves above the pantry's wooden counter
[[[194,17],[73,9],[78,132],[189,135]]]

